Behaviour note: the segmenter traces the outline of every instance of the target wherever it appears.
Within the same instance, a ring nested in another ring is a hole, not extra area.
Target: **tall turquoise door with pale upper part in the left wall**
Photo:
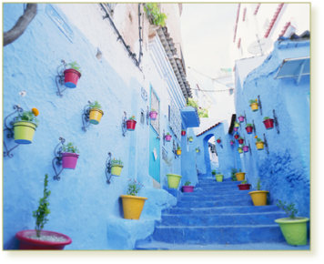
[[[157,120],[150,119],[149,125],[149,175],[160,182],[160,101],[152,86],[149,101],[157,112]]]

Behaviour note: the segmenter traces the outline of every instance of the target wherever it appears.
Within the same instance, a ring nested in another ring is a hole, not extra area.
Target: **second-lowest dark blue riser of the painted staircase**
[[[287,215],[278,213],[259,213],[244,215],[164,215],[156,226],[240,226],[240,225],[273,225],[278,218],[286,218]]]

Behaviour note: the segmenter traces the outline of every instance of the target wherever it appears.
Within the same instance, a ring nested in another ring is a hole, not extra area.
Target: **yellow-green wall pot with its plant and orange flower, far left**
[[[14,138],[15,143],[31,144],[35,134],[36,127],[38,127],[39,115],[37,108],[32,108],[32,111],[24,111],[15,117],[14,122]]]

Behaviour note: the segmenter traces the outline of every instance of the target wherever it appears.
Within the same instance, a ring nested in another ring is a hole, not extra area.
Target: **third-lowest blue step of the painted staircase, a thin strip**
[[[167,208],[162,214],[184,214],[184,215],[214,215],[214,214],[250,214],[262,212],[282,212],[278,206],[236,206],[236,207],[216,207],[216,208]]]

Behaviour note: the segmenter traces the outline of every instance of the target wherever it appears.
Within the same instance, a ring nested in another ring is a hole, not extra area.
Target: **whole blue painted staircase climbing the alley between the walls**
[[[275,223],[285,212],[253,206],[250,190],[239,190],[239,183],[198,178],[194,192],[164,210],[153,235],[136,249],[294,249]]]

